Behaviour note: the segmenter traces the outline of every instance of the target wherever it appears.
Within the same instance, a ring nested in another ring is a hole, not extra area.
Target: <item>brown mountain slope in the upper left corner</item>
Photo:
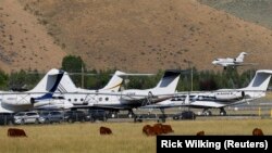
[[[37,17],[16,0],[0,1],[0,68],[48,71],[60,67],[66,53],[54,44]]]

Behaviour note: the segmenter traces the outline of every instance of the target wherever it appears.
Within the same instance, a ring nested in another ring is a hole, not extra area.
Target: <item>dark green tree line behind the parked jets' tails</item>
[[[87,71],[81,56],[67,55],[62,60],[61,69],[67,72],[77,87],[86,89],[100,89],[112,77],[116,69]],[[252,79],[256,69],[248,69],[238,73],[236,68],[226,68],[222,72],[214,71],[183,71],[177,91],[203,91],[217,90],[221,88],[242,88],[246,87]],[[131,76],[125,78],[123,89],[148,89],[154,87],[163,75],[163,69],[158,71],[154,76]],[[1,90],[29,90],[45,76],[45,73],[37,69],[18,71],[5,74],[0,71]],[[191,77],[193,76],[193,77]],[[84,80],[84,81],[83,81]]]

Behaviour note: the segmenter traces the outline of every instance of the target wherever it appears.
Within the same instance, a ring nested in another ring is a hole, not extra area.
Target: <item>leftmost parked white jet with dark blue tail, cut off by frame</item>
[[[54,98],[53,92],[57,90],[63,74],[63,71],[53,68],[45,75],[33,90],[25,92],[1,91],[0,113],[13,113],[38,109],[39,106],[47,105],[49,102],[59,105],[60,101],[51,100]],[[62,102],[69,105],[67,101]]]

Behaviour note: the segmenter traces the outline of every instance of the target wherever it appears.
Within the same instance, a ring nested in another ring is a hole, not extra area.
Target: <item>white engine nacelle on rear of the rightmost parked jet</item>
[[[245,92],[244,91],[217,92],[214,97],[217,100],[222,100],[222,101],[238,100],[245,97]]]

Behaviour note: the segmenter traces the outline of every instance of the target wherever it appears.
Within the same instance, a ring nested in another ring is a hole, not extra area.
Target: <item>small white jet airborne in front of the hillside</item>
[[[223,66],[224,69],[226,69],[226,67],[228,67],[228,66],[235,67],[235,66],[243,66],[243,65],[252,65],[252,63],[251,64],[250,63],[244,63],[244,58],[247,54],[248,53],[246,53],[246,52],[242,52],[235,59],[232,59],[232,58],[217,59],[217,60],[212,61],[212,64]]]

